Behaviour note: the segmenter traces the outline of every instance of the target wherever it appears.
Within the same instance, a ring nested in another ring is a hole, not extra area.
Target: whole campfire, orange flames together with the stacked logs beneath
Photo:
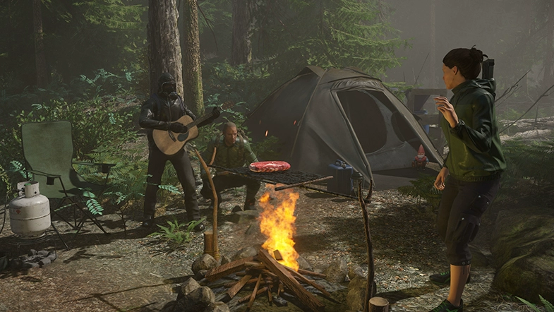
[[[323,286],[305,276],[325,278],[325,275],[302,270],[296,261],[299,254],[294,249],[293,236],[296,232],[294,210],[298,198],[299,194],[290,190],[265,193],[260,198],[263,212],[260,213],[259,221],[260,231],[267,239],[258,255],[219,265],[205,275],[205,279],[210,282],[231,274],[241,277],[239,281],[224,285],[229,288],[227,295],[231,299],[246,288],[246,285],[254,284],[251,294],[239,299],[239,303],[248,301],[247,311],[252,307],[256,296],[263,294],[270,304],[287,304],[287,301],[280,298],[283,292],[296,296],[311,311],[325,311],[325,305],[302,284],[314,287],[321,295],[332,300],[331,294]],[[276,204],[273,205],[273,202]]]

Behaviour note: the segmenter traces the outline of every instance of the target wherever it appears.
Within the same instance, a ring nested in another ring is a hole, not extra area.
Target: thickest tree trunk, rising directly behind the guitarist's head
[[[148,1],[147,40],[150,92],[152,93],[157,91],[159,76],[168,72],[175,78],[177,93],[183,94],[178,19],[179,11],[175,0]]]

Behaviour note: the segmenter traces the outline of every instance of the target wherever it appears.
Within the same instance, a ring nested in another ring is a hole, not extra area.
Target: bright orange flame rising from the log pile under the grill
[[[260,198],[260,206],[263,208],[263,212],[259,217],[260,230],[267,236],[262,248],[272,256],[278,250],[283,257],[283,260],[279,260],[279,263],[298,271],[299,264],[296,259],[298,259],[299,254],[294,250],[295,243],[292,236],[296,234],[294,209],[299,193],[294,193],[291,190],[276,192],[273,191],[273,188]],[[277,207],[269,202],[270,197],[277,198]]]

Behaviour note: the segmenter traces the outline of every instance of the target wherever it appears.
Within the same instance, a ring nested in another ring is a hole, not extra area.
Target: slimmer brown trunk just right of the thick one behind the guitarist
[[[202,67],[200,66],[200,39],[198,37],[198,1],[184,1],[183,23],[183,99],[194,114],[204,113],[202,94]]]

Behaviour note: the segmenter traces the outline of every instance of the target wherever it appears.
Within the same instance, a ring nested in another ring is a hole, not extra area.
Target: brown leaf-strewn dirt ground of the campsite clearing
[[[325,268],[337,258],[366,268],[359,205],[313,191],[296,191],[300,198],[294,241],[300,255],[314,270]],[[224,193],[224,200],[224,216],[219,223],[220,253],[233,256],[240,248],[262,243],[262,236],[245,234],[248,224],[229,222],[230,210],[241,204],[243,191]],[[211,215],[208,205],[200,202],[202,215]],[[378,296],[390,301],[390,311],[434,308],[445,299],[448,288],[441,289],[428,281],[428,275],[447,268],[444,246],[430,212],[397,191],[374,193],[369,209]],[[168,207],[159,217],[159,224],[174,218],[182,222],[183,210]],[[184,248],[169,251],[159,237],[147,237],[149,231],[140,228],[138,220],[128,220],[126,235],[114,213],[100,217],[100,222],[109,235],[88,223],[88,232],[77,236],[70,251],[61,250],[61,244],[51,234],[49,244],[55,242],[58,251],[58,259],[52,265],[0,272],[0,312],[159,311],[176,299],[174,289],[192,275],[191,264],[203,252],[203,237],[192,234]],[[492,227],[486,220],[483,223]],[[67,239],[70,234],[63,236]],[[477,243],[486,250],[487,241],[481,237]],[[8,243],[13,243],[9,220],[0,234],[0,249],[13,258],[16,246]],[[20,253],[29,248],[42,247],[21,246]],[[492,268],[473,268],[474,282],[466,287],[464,311],[531,311],[512,297],[490,289],[493,274]],[[255,306],[253,311],[257,311]]]

